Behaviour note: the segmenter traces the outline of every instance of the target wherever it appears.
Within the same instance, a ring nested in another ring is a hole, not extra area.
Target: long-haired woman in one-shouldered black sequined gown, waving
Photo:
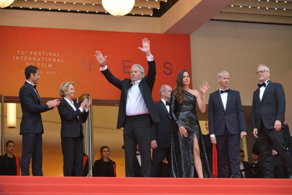
[[[197,90],[189,89],[189,83],[189,73],[180,71],[171,94],[171,176],[212,177],[196,114],[196,104],[202,113],[206,111],[205,96],[210,86],[208,82],[203,82],[200,86],[201,98]]]

